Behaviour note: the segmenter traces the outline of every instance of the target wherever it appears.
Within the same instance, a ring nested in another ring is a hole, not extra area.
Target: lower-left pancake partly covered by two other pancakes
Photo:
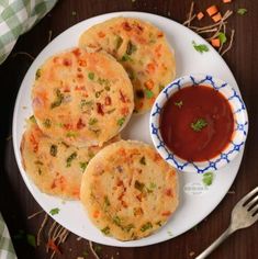
[[[33,120],[33,117],[32,117]],[[116,136],[112,142],[119,140]],[[30,122],[21,142],[24,170],[42,192],[64,199],[79,199],[82,174],[99,146],[77,148],[51,139]]]

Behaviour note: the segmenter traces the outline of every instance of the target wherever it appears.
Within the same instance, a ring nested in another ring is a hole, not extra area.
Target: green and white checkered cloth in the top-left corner
[[[18,37],[35,25],[57,0],[0,0],[0,64]]]

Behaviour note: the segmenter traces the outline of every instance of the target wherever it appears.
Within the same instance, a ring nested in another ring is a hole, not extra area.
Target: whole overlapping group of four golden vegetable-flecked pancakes
[[[36,71],[34,115],[21,143],[41,191],[79,199],[92,223],[120,240],[162,226],[178,205],[177,173],[120,132],[133,112],[150,110],[175,67],[164,33],[131,18],[97,24],[79,47],[49,57]]]

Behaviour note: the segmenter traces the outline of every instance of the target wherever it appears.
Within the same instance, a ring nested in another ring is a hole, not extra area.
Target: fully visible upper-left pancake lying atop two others
[[[134,93],[112,56],[74,48],[48,58],[37,70],[32,104],[47,136],[79,147],[101,146],[127,123]]]

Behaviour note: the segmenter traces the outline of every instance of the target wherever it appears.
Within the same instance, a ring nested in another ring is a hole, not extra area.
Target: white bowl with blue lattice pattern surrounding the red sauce
[[[179,158],[166,146],[160,134],[159,122],[164,105],[175,92],[190,86],[198,87],[198,85],[211,87],[228,100],[234,114],[234,133],[232,142],[220,155],[206,161],[191,162]],[[246,142],[248,116],[239,93],[227,82],[209,75],[191,75],[176,79],[159,93],[150,112],[149,130],[154,146],[168,164],[180,171],[203,173],[224,167],[237,156]]]

